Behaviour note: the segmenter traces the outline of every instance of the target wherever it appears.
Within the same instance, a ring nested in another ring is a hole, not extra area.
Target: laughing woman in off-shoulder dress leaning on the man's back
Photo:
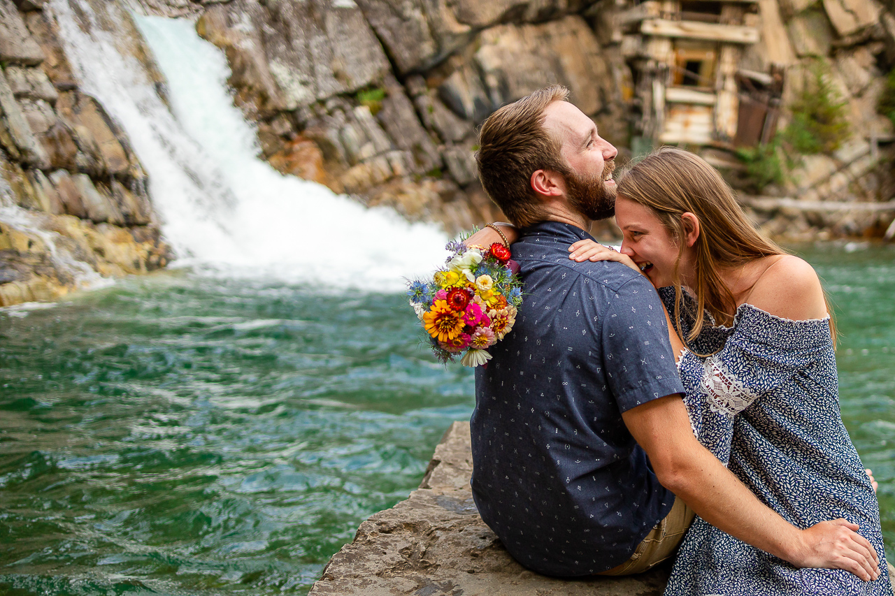
[[[666,594],[891,595],[879,506],[842,424],[814,269],[755,232],[712,166],[681,149],[655,151],[618,181],[616,222],[620,252],[582,241],[570,258],[617,260],[662,288],[687,346],[678,369],[697,438],[791,524],[844,517],[880,558],[872,582],[796,569],[697,517]]]

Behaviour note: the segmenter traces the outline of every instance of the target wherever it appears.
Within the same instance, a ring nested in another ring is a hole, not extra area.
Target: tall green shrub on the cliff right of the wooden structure
[[[826,63],[815,62],[792,105],[792,120],[782,137],[797,153],[832,153],[848,139],[848,101],[832,84],[829,72]]]

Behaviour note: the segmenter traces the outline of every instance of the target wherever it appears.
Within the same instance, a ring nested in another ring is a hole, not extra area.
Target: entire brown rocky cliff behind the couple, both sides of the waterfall
[[[91,272],[144,272],[171,258],[148,176],[107,108],[72,73],[54,5],[78,15],[83,30],[107,32],[158,89],[165,83],[130,11],[194,21],[200,36],[226,53],[234,101],[257,124],[261,157],[367,205],[441,221],[450,232],[501,218],[477,183],[473,159],[476,127],[494,109],[544,84],[565,84],[623,161],[632,146],[644,148],[651,110],[674,99],[650,95],[656,80],[644,72],[715,68],[686,44],[675,49],[677,42],[656,36],[711,37],[731,30],[734,19],[741,23],[737,35],[751,45],[721,47],[716,70],[727,74],[718,78],[718,94],[677,89],[676,101],[714,102],[718,117],[722,104],[730,113],[737,92],[741,105],[761,95],[755,81],[780,83],[779,113],[764,123],[783,130],[793,120],[790,107],[810,87],[814,64],[823,63],[848,123],[838,149],[794,164],[763,196],[743,196],[756,221],[777,236],[895,235],[892,125],[878,109],[887,94],[895,102],[895,80],[886,78],[895,64],[892,6],[755,0],[744,4],[748,9],[709,15],[718,24],[706,33],[686,19],[709,4],[0,0],[0,305],[53,298]],[[658,70],[650,62],[657,48],[670,52]],[[730,81],[742,86],[728,89]],[[748,126],[743,118],[741,110]],[[729,142],[695,149],[735,182],[755,175],[746,172],[755,164],[733,158]],[[613,235],[609,223],[595,231]]]

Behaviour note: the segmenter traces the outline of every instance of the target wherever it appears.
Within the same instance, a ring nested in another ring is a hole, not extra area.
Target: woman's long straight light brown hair
[[[775,254],[788,254],[759,234],[734,198],[728,183],[702,158],[675,147],[656,149],[631,166],[618,181],[618,196],[652,209],[678,244],[678,260],[672,272],[675,286],[674,324],[680,334],[680,259],[686,246],[681,216],[699,218],[695,248],[695,322],[684,339],[689,344],[699,335],[708,311],[716,323],[729,326],[737,301],[721,277],[722,269],[743,265]]]

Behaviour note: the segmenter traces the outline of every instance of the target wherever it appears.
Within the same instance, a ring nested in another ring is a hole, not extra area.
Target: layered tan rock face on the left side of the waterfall
[[[84,26],[114,30],[122,51],[155,72],[129,14],[92,4],[99,19]],[[43,0],[0,0],[0,65],[0,306],[54,299],[85,272],[164,267],[147,175],[79,89]]]

